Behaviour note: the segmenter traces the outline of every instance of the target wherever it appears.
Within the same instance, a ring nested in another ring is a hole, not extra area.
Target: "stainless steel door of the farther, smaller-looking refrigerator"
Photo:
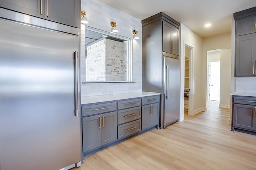
[[[180,61],[164,57],[164,128],[180,117]]]

